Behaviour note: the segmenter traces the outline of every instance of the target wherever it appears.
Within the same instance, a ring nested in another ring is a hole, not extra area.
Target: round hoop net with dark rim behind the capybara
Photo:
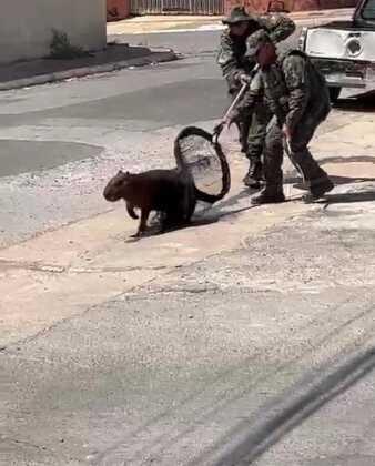
[[[184,128],[175,139],[174,156],[178,166],[189,168],[195,186],[220,201],[231,188],[226,158],[212,134],[201,128]]]

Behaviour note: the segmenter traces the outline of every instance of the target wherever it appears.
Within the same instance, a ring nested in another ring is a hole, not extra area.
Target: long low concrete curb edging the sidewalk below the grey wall
[[[144,57],[133,58],[129,60],[116,61],[113,63],[98,64],[94,67],[81,67],[72,70],[57,71],[54,73],[40,74],[37,77],[22,78],[7,82],[0,82],[0,91],[9,91],[38,84],[47,84],[58,81],[64,81],[71,78],[83,78],[91,74],[108,73],[111,71],[122,70],[129,67],[146,67],[153,63],[163,63],[178,60],[176,53],[172,49],[164,51],[151,50],[151,53]]]

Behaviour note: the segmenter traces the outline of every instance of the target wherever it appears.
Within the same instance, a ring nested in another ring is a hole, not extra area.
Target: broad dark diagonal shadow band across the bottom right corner
[[[241,423],[229,438],[240,435],[245,428],[249,434],[222,456],[215,466],[249,465],[254,462],[318,409],[368,375],[375,368],[375,348],[352,356],[342,355],[342,359],[334,368],[331,365],[321,367],[313,381],[311,374],[306,375],[268,406],[261,408],[257,415],[252,416],[256,419],[254,424]],[[225,439],[222,439],[223,443]],[[210,452],[221,446],[216,444]],[[210,455],[210,452],[206,454]],[[192,462],[190,466],[204,464],[202,460],[204,457]]]

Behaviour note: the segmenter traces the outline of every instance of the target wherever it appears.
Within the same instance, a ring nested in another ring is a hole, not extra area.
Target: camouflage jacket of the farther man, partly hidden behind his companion
[[[221,37],[217,63],[226,79],[230,92],[235,92],[240,87],[240,74],[251,73],[255,62],[245,57],[246,40],[259,29],[265,29],[274,42],[288,38],[295,31],[295,23],[284,14],[252,16],[249,21],[247,32],[243,37],[231,36],[225,30]]]

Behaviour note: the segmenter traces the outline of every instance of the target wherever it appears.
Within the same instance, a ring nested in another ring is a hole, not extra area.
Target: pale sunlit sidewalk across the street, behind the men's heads
[[[315,26],[337,19],[349,19],[353,11],[353,8],[298,11],[291,13],[290,17],[300,26]],[[222,19],[223,17],[210,16],[144,16],[109,22],[107,31],[112,36],[220,30],[223,29]]]

